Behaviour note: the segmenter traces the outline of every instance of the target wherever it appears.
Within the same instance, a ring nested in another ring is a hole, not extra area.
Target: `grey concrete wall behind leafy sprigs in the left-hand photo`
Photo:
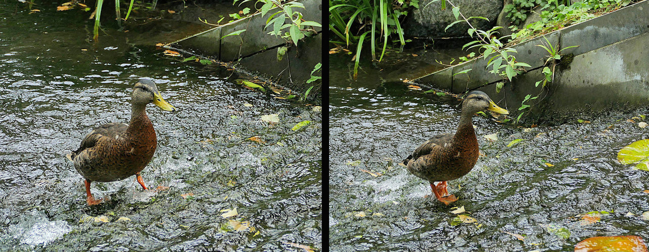
[[[299,2],[305,7],[299,9],[304,20],[323,23],[322,1],[299,0]],[[283,86],[304,92],[312,86],[306,84],[306,80],[311,78],[313,67],[322,62],[322,36],[318,34],[299,41],[298,47],[289,47],[284,59],[278,62],[277,49],[288,46],[289,43],[280,36],[268,34],[272,27],[265,29],[268,17],[277,11],[279,8],[273,8],[265,16],[258,13],[195,34],[190,38],[176,41],[173,47],[215,58],[221,62],[237,62],[240,67],[243,67],[243,69],[239,67],[238,70],[258,73],[260,76],[267,76],[267,80],[278,81]],[[322,31],[321,27],[314,28],[317,32]],[[244,29],[246,31],[238,36],[223,38],[227,34]],[[314,75],[321,76],[320,73]],[[321,93],[321,90],[313,89],[312,92]]]

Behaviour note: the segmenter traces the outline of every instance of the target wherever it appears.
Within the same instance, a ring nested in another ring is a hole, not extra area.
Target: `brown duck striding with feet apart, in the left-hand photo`
[[[158,141],[145,109],[149,103],[165,111],[176,109],[165,102],[151,80],[138,80],[130,97],[129,124],[103,124],[83,138],[78,150],[67,154],[67,159],[73,161],[77,172],[86,179],[88,205],[102,201],[95,200],[90,193],[93,181],[110,182],[135,175],[142,189],[147,190],[140,172],[151,161]]]

